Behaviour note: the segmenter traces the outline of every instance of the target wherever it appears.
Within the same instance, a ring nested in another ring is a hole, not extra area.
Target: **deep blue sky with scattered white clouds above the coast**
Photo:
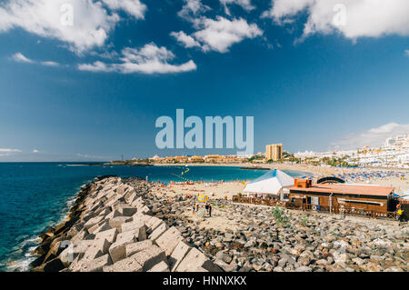
[[[405,0],[1,1],[0,161],[235,152],[158,149],[155,120],[177,108],[254,116],[255,152],[379,145],[409,133],[408,11]]]

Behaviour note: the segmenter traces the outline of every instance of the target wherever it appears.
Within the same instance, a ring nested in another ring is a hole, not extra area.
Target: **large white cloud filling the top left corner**
[[[9,0],[0,4],[0,33],[20,27],[63,41],[76,53],[104,45],[118,21],[118,15],[92,0]]]

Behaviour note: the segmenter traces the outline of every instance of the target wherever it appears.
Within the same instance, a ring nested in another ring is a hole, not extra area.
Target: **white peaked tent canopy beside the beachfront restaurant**
[[[244,193],[278,195],[285,187],[294,185],[294,178],[283,171],[274,169],[244,187]]]

